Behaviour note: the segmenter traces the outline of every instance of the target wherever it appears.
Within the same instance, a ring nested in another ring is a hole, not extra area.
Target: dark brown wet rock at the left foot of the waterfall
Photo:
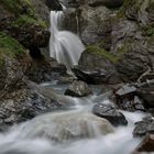
[[[66,67],[58,64],[53,58],[42,57],[34,59],[31,67],[26,70],[26,76],[30,80],[37,84],[58,80],[59,77],[66,75]]]

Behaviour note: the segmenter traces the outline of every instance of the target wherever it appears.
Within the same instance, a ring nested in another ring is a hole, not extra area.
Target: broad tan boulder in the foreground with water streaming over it
[[[96,138],[96,130],[102,135],[113,132],[107,120],[80,111],[43,114],[22,128],[26,138],[43,136],[58,142]]]

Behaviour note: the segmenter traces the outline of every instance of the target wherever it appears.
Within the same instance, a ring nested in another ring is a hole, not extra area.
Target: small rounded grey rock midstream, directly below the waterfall
[[[92,90],[88,87],[88,85],[80,80],[75,80],[73,84],[66,89],[66,96],[73,97],[86,97],[92,94]]]

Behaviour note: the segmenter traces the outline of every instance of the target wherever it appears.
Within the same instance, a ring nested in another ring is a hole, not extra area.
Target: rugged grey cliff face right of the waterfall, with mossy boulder
[[[117,81],[135,81],[154,69],[153,0],[70,0],[65,12],[64,26],[75,33],[78,30],[88,45],[81,67],[103,68]]]

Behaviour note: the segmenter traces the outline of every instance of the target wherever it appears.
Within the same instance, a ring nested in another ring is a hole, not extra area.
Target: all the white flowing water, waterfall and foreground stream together
[[[51,12],[50,50],[51,56],[70,72],[85,47],[78,36],[58,30],[62,18],[63,11]],[[56,84],[52,87],[61,94],[64,89]],[[132,130],[134,122],[144,117],[143,113],[122,111],[129,124],[114,128],[91,112],[96,101],[112,103],[109,100],[97,95],[72,98],[61,94],[59,97],[72,106],[64,111],[41,114],[1,133],[0,154],[131,154],[139,144],[140,141],[132,136]]]

